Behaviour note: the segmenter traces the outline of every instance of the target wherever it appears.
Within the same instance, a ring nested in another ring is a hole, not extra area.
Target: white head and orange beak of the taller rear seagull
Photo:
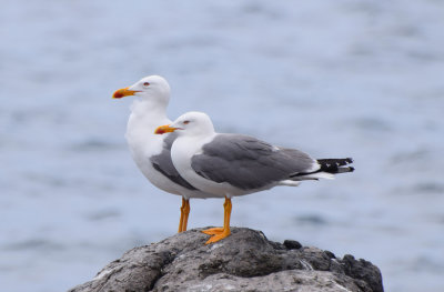
[[[167,80],[160,75],[144,77],[131,87],[119,89],[112,94],[113,99],[135,95],[142,99],[158,100],[160,102],[169,102],[170,85]]]

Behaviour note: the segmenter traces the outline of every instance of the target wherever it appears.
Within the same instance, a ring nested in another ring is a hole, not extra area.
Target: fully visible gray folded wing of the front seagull
[[[315,161],[295,149],[275,148],[253,137],[219,134],[192,157],[191,167],[201,177],[228,182],[242,190],[266,187],[307,172]]]

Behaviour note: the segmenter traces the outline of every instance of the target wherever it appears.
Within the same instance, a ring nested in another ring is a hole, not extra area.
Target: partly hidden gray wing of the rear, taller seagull
[[[173,161],[171,160],[171,145],[176,138],[176,133],[168,134],[168,137],[163,140],[162,152],[158,155],[153,155],[150,158],[151,164],[157,171],[161,172],[163,175],[165,175],[176,184],[182,185],[183,188],[186,188],[189,190],[196,190],[179,174],[178,170],[174,168]]]

